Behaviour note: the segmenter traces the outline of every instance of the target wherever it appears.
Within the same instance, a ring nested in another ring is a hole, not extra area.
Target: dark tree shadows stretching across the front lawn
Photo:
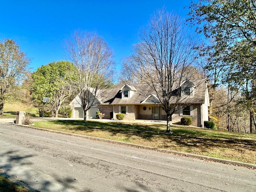
[[[133,122],[100,122],[88,121],[82,124],[81,120],[58,120],[52,124],[64,125],[64,129],[78,130],[86,133],[95,131],[110,132],[113,136],[122,134],[127,138],[138,136],[143,140],[162,142],[162,148],[172,148],[171,143],[187,148],[200,148],[204,151],[210,148],[233,148],[237,151],[256,150],[256,136],[223,132],[218,130],[194,128],[189,126],[172,126],[171,134],[165,132],[165,125],[142,124]]]

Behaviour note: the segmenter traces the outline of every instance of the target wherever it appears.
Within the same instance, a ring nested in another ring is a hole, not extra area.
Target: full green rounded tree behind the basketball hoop
[[[32,100],[42,106],[43,97],[50,97],[50,108],[58,117],[62,103],[71,95],[76,73],[74,64],[68,61],[51,62],[32,73]]]

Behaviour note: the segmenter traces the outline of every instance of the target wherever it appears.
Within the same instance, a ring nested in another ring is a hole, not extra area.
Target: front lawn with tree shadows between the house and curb
[[[34,122],[34,127],[256,164],[256,135],[189,126],[88,120]]]

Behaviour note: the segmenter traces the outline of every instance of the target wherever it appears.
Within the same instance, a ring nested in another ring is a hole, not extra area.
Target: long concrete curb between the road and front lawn
[[[23,126],[23,127],[27,127],[27,128],[36,129],[36,130],[44,130],[44,131],[48,131],[48,132],[60,133],[60,134],[65,134],[65,135],[70,135],[70,136],[77,136],[77,137],[82,137],[82,138],[88,138],[88,139],[93,139],[93,140],[99,140],[99,141],[123,144],[123,145],[127,145],[127,146],[138,147],[138,148],[156,150],[156,151],[160,151],[160,152],[167,152],[167,153],[172,153],[172,154],[178,154],[178,155],[183,155],[183,156],[187,156],[187,157],[199,158],[199,159],[203,159],[203,160],[210,160],[210,161],[220,162],[220,163],[225,163],[225,164],[233,164],[233,165],[238,165],[238,166],[251,167],[251,168],[255,168],[256,169],[256,164],[248,164],[248,163],[237,162],[237,161],[232,161],[232,160],[226,160],[226,159],[220,159],[220,158],[214,158],[214,157],[208,157],[208,156],[201,156],[201,155],[196,155],[196,154],[191,154],[191,153],[178,152],[178,151],[166,150],[166,149],[161,149],[161,148],[154,148],[154,147],[150,147],[150,146],[143,146],[143,145],[138,145],[138,144],[114,141],[114,140],[97,138],[97,137],[91,137],[91,136],[84,136],[84,135],[79,135],[79,134],[74,134],[74,133],[67,133],[67,132],[61,132],[61,131],[37,128],[37,127],[28,126],[28,125],[17,125],[17,124],[13,124],[13,125]]]

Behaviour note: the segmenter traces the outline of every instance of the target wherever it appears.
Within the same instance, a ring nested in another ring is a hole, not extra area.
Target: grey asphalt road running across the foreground
[[[0,172],[40,192],[247,192],[256,170],[0,123]]]

